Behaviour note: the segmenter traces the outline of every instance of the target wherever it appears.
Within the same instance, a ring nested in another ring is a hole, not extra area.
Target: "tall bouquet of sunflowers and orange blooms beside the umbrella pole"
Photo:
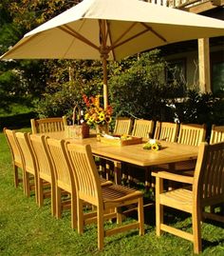
[[[84,120],[87,125],[108,125],[111,122],[113,109],[111,106],[105,109],[100,107],[100,95],[88,99],[84,94],[83,99],[86,106]]]

